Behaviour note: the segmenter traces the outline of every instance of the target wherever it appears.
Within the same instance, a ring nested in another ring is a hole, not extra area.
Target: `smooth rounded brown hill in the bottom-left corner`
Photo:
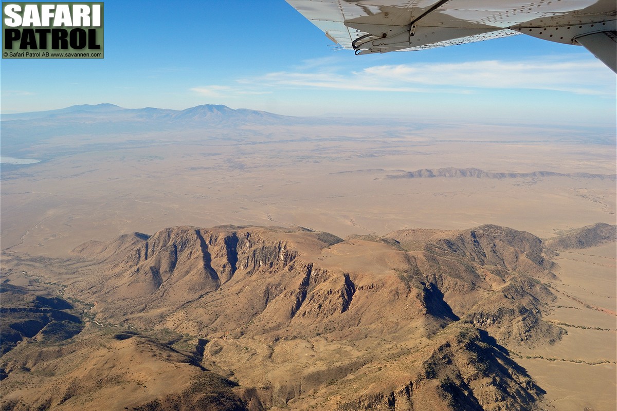
[[[90,326],[67,344],[19,344],[2,359],[2,409],[246,409],[236,383],[172,343]]]

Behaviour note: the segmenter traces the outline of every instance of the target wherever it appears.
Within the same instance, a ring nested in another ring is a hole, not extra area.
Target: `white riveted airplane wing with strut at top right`
[[[355,54],[526,34],[584,46],[617,72],[615,0],[286,0]]]

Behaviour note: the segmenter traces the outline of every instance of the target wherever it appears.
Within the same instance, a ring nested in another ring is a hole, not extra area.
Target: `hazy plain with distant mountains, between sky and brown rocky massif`
[[[499,224],[551,237],[615,221],[610,130],[316,120],[225,106],[52,114],[3,117],[3,155],[44,160],[3,165],[5,250],[62,255],[93,238],[183,224],[297,225],[341,237]],[[470,168],[484,173],[439,173]],[[392,178],[423,169],[442,176]]]

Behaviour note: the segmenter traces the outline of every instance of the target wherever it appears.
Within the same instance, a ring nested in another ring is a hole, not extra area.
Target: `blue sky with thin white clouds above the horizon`
[[[4,59],[2,113],[112,103],[286,115],[615,124],[615,74],[527,36],[355,56],[284,0],[105,2],[105,59]]]

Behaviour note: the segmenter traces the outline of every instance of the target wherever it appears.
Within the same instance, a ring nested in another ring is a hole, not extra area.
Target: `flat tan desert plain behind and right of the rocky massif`
[[[614,139],[600,128],[332,119],[45,136],[10,153],[43,161],[2,165],[2,276],[23,285],[32,257],[184,225],[345,238],[495,224],[550,238],[615,224]],[[509,347],[546,407],[617,405],[616,257],[614,242],[558,251],[545,320],[567,334]]]

